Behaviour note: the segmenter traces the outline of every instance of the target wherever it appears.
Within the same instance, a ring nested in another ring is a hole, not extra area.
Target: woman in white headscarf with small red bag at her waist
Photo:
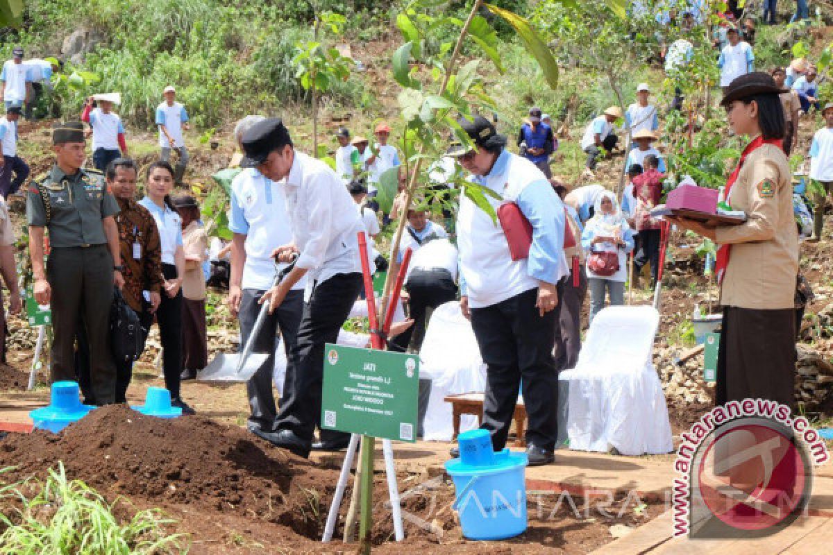
[[[601,193],[596,200],[596,216],[587,222],[581,234],[581,245],[587,251],[587,288],[590,290],[592,322],[605,306],[605,290],[610,293],[611,306],[625,304],[627,253],[633,250],[633,230],[627,225],[611,191]],[[616,259],[602,268],[597,263],[606,253],[615,253]]]

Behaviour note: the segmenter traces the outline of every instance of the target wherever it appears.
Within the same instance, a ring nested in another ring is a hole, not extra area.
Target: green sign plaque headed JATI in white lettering
[[[416,354],[324,347],[322,429],[414,442],[418,392]]]

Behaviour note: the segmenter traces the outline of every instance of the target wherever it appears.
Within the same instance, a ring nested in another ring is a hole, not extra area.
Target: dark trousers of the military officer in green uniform
[[[79,316],[90,353],[90,389],[97,404],[116,400],[116,365],[110,349],[112,256],[107,245],[53,247],[47,260],[52,287],[52,382],[76,380]]]

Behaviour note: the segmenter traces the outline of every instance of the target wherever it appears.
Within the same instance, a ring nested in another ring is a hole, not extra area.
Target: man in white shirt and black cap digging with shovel
[[[276,310],[292,288],[307,278],[307,301],[295,345],[290,349],[280,411],[272,432],[253,429],[277,447],[308,457],[321,419],[324,344],[336,343],[338,330],[362,289],[357,234],[364,230],[355,204],[326,163],[295,150],[278,118],[260,121],[243,134],[241,166],[256,167],[272,181],[282,181],[292,244],[272,255],[295,267],[262,296]],[[347,447],[349,434],[322,430],[317,447]]]

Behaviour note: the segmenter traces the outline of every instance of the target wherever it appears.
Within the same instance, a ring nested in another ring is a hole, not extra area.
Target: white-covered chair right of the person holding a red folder
[[[593,319],[576,368],[559,376],[571,449],[673,450],[666,398],[651,362],[658,325],[651,306],[611,306]]]

